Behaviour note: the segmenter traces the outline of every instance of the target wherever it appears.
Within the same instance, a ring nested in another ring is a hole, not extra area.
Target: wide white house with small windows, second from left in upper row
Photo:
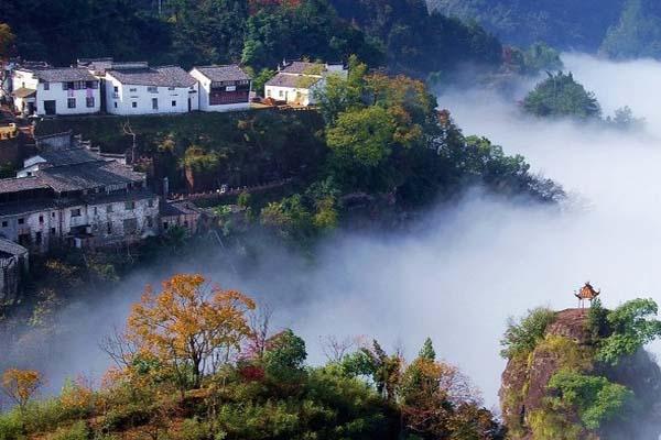
[[[181,67],[116,64],[104,81],[111,114],[185,113],[199,107],[197,80]]]

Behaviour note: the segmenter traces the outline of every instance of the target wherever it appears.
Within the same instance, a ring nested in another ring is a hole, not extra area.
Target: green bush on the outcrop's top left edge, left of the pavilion
[[[555,312],[548,308],[528,311],[528,316],[518,320],[510,318],[500,344],[502,358],[512,359],[519,354],[530,353],[538,342],[544,338],[546,327],[555,320]]]

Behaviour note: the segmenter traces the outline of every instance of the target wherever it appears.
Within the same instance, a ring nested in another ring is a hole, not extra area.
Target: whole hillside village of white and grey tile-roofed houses
[[[131,154],[101,152],[71,130],[35,135],[34,121],[306,107],[316,102],[330,74],[346,78],[347,69],[283,62],[260,90],[262,99],[238,65],[185,72],[112,58],[78,59],[72,67],[19,59],[6,64],[0,162],[20,165],[15,175],[0,179],[0,299],[17,297],[30,254],[137,242],[173,227],[193,235],[213,216],[186,195],[171,199],[166,178],[148,185]]]

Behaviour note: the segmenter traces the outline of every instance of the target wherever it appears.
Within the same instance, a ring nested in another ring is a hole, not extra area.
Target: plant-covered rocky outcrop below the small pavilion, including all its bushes
[[[500,402],[510,438],[657,439],[661,370],[643,345],[661,336],[651,299],[614,310],[532,310],[512,320]]]

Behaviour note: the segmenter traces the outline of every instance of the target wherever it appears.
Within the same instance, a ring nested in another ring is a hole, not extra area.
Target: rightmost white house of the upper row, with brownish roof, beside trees
[[[264,95],[294,106],[315,105],[315,92],[323,90],[328,75],[348,77],[348,70],[342,64],[293,62],[278,69],[278,74],[267,82]]]

